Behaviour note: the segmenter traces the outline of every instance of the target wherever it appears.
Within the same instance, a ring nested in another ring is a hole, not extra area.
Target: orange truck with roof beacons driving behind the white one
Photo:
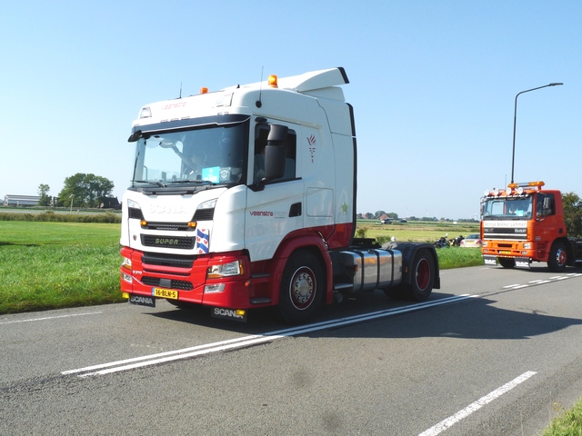
[[[553,272],[582,261],[582,240],[567,236],[562,194],[544,182],[510,183],[481,199],[484,263],[529,268],[547,263]]]

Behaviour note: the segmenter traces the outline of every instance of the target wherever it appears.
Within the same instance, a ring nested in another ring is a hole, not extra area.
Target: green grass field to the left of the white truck
[[[0,222],[0,313],[123,301],[119,224]]]

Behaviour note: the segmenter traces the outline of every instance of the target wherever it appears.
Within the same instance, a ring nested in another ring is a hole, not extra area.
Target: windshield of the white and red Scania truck
[[[246,124],[143,134],[133,186],[236,184],[246,180]]]

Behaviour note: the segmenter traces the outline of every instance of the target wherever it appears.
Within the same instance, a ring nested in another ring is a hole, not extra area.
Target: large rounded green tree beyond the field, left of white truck
[[[58,194],[58,205],[77,207],[97,207],[99,199],[110,195],[114,183],[95,174],[76,173],[65,178],[63,190]]]

